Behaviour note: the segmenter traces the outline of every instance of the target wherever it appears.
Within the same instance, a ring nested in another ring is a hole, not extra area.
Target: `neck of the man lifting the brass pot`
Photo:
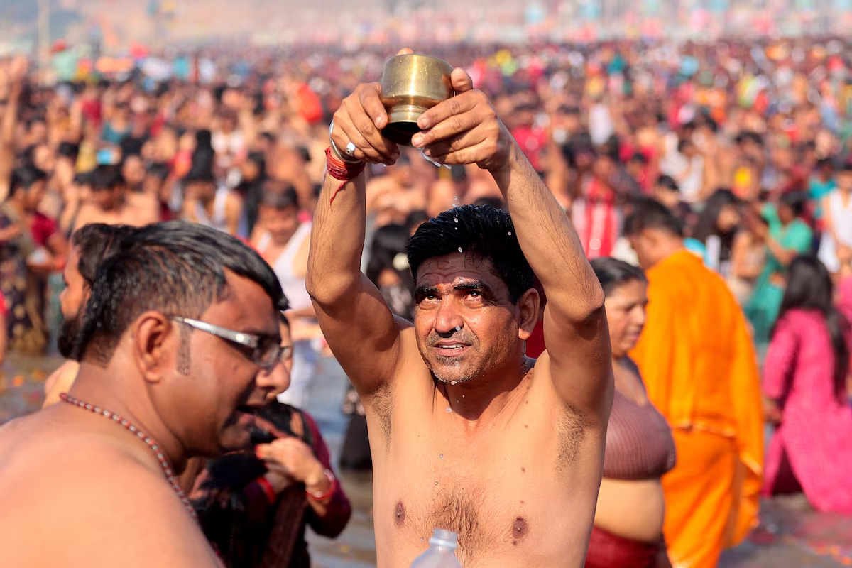
[[[492,422],[505,409],[516,404],[526,392],[519,387],[528,380],[528,371],[534,363],[533,359],[521,355],[514,362],[491,370],[486,376],[455,385],[436,381],[437,388],[446,397],[452,412],[468,422],[466,427],[475,430],[478,424]]]

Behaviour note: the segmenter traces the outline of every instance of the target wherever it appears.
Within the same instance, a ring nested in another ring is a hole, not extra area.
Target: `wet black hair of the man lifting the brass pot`
[[[487,205],[462,205],[417,227],[406,245],[412,278],[417,281],[417,269],[423,261],[459,250],[491,261],[494,273],[509,288],[513,303],[533,288],[533,269],[518,244],[512,218],[505,211]]]

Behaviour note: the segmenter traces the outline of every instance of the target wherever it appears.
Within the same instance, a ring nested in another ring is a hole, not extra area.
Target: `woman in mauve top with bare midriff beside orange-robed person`
[[[660,478],[675,466],[675,443],[665,418],[648,401],[636,364],[627,356],[645,324],[648,281],[639,268],[613,258],[597,258],[591,266],[606,296],[615,396],[585,566],[671,566],[663,540]]]

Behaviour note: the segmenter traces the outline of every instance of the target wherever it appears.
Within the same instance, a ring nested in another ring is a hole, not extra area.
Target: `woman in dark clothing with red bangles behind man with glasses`
[[[334,538],[352,513],[314,419],[275,398],[290,386],[293,364],[283,314],[279,328],[286,360],[258,376],[273,387],[256,416],[270,443],[207,462],[190,494],[204,535],[229,568],[309,568],[305,528]]]

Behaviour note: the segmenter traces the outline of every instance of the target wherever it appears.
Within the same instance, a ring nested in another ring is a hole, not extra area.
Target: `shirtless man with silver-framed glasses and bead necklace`
[[[98,268],[70,393],[0,428],[3,565],[220,565],[177,476],[249,444],[282,308],[272,269],[224,232],[125,238]]]

